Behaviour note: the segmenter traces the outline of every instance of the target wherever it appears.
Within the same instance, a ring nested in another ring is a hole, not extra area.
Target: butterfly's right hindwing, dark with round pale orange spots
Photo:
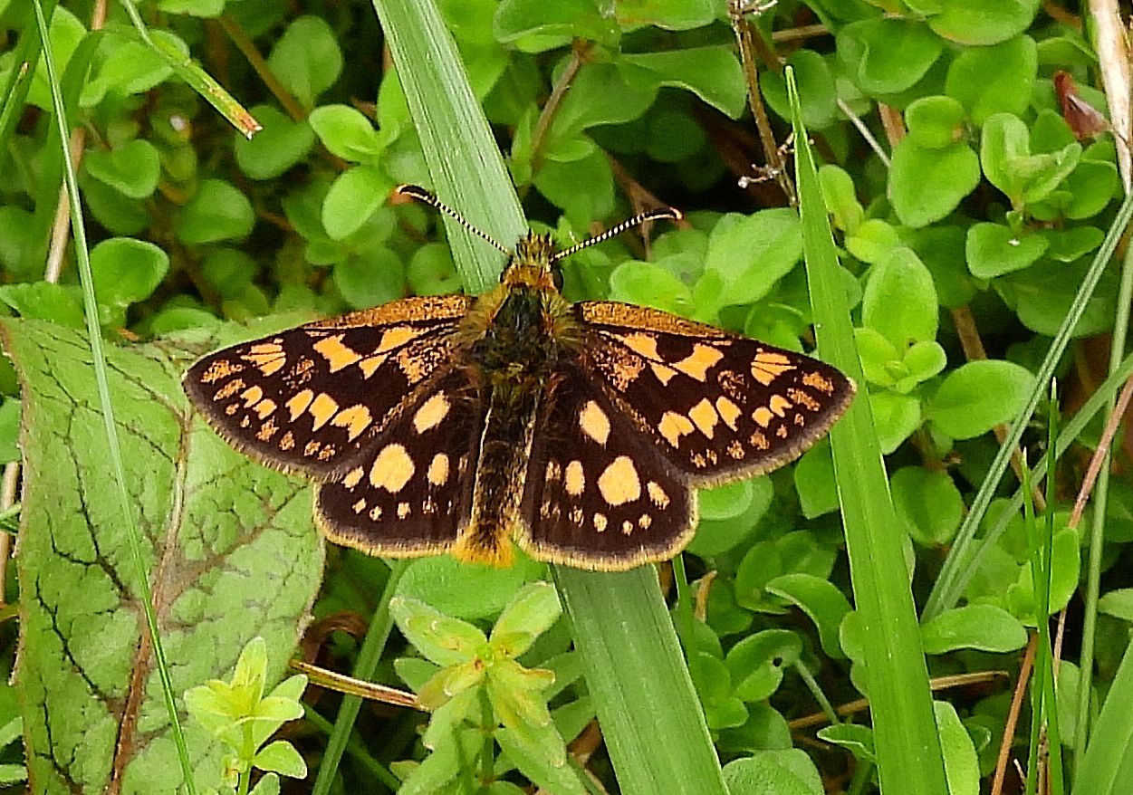
[[[687,478],[577,365],[561,376],[535,433],[520,546],[540,561],[604,571],[672,557],[696,522]]]

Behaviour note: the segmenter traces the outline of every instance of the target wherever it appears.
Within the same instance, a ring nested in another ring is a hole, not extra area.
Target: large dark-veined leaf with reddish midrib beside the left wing
[[[86,340],[36,320],[5,320],[0,333],[24,396],[15,679],[32,789],[172,793],[180,766],[116,510]],[[323,564],[306,486],[247,462],[189,414],[179,383],[186,364],[161,344],[109,354],[127,488],[178,701],[227,675],[256,635],[279,678]],[[198,787],[216,786],[221,749],[193,720],[182,725]]]

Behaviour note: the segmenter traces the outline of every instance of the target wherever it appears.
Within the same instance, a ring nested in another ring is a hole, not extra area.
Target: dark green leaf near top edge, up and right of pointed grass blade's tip
[[[911,88],[944,50],[944,42],[921,24],[875,18],[837,32],[838,58],[846,75],[867,96]]]

